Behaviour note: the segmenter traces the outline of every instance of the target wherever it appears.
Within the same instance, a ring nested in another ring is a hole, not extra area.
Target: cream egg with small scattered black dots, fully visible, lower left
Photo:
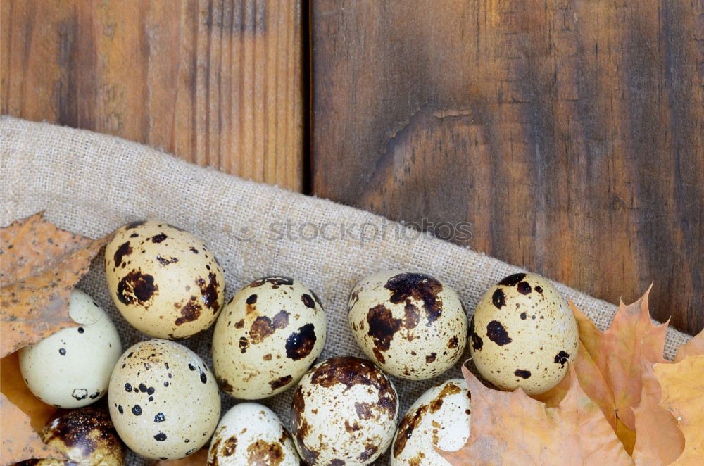
[[[120,439],[152,459],[194,453],[220,417],[213,374],[196,353],[166,340],[125,351],[110,378],[108,405]]]

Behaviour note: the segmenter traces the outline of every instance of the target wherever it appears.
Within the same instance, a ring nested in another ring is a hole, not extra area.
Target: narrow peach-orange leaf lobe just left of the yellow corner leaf
[[[655,379],[653,365],[643,367],[641,403],[634,408],[636,443],[633,460],[637,466],[664,466],[676,460],[684,450],[684,435],[677,419],[660,406],[662,390]]]

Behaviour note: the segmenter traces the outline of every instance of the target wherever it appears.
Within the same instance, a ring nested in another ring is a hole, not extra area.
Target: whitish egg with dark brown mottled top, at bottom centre
[[[368,360],[341,356],[310,368],[296,387],[291,434],[308,465],[369,465],[389,448],[398,396]]]

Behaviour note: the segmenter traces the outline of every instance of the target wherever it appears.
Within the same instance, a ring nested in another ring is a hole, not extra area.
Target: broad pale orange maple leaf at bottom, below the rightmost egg
[[[596,403],[577,383],[555,408],[527,396],[489,389],[467,370],[462,372],[472,393],[470,438],[458,451],[439,451],[461,465],[632,465]]]

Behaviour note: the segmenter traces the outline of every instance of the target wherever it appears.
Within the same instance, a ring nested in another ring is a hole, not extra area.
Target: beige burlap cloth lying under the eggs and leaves
[[[472,313],[486,289],[520,270],[363,210],[241,180],[103,134],[3,117],[0,154],[0,225],[46,210],[60,227],[93,238],[137,219],[183,227],[217,254],[228,298],[263,275],[287,275],[308,284],[327,311],[329,334],[321,358],[363,355],[347,327],[346,300],[365,275],[384,269],[427,272],[453,286]],[[147,337],[117,312],[104,274],[101,254],[79,288],[108,310],[126,349]],[[608,327],[615,306],[557,286],[598,327]],[[182,343],[210,365],[210,337],[205,332]],[[689,338],[669,329],[665,355],[672,358]],[[429,386],[449,377],[460,377],[459,367],[423,382],[394,379],[401,415]],[[284,424],[291,391],[263,401]],[[224,413],[235,400],[223,396],[222,402]],[[386,458],[377,463],[388,464]],[[145,464],[134,454],[127,461]]]

